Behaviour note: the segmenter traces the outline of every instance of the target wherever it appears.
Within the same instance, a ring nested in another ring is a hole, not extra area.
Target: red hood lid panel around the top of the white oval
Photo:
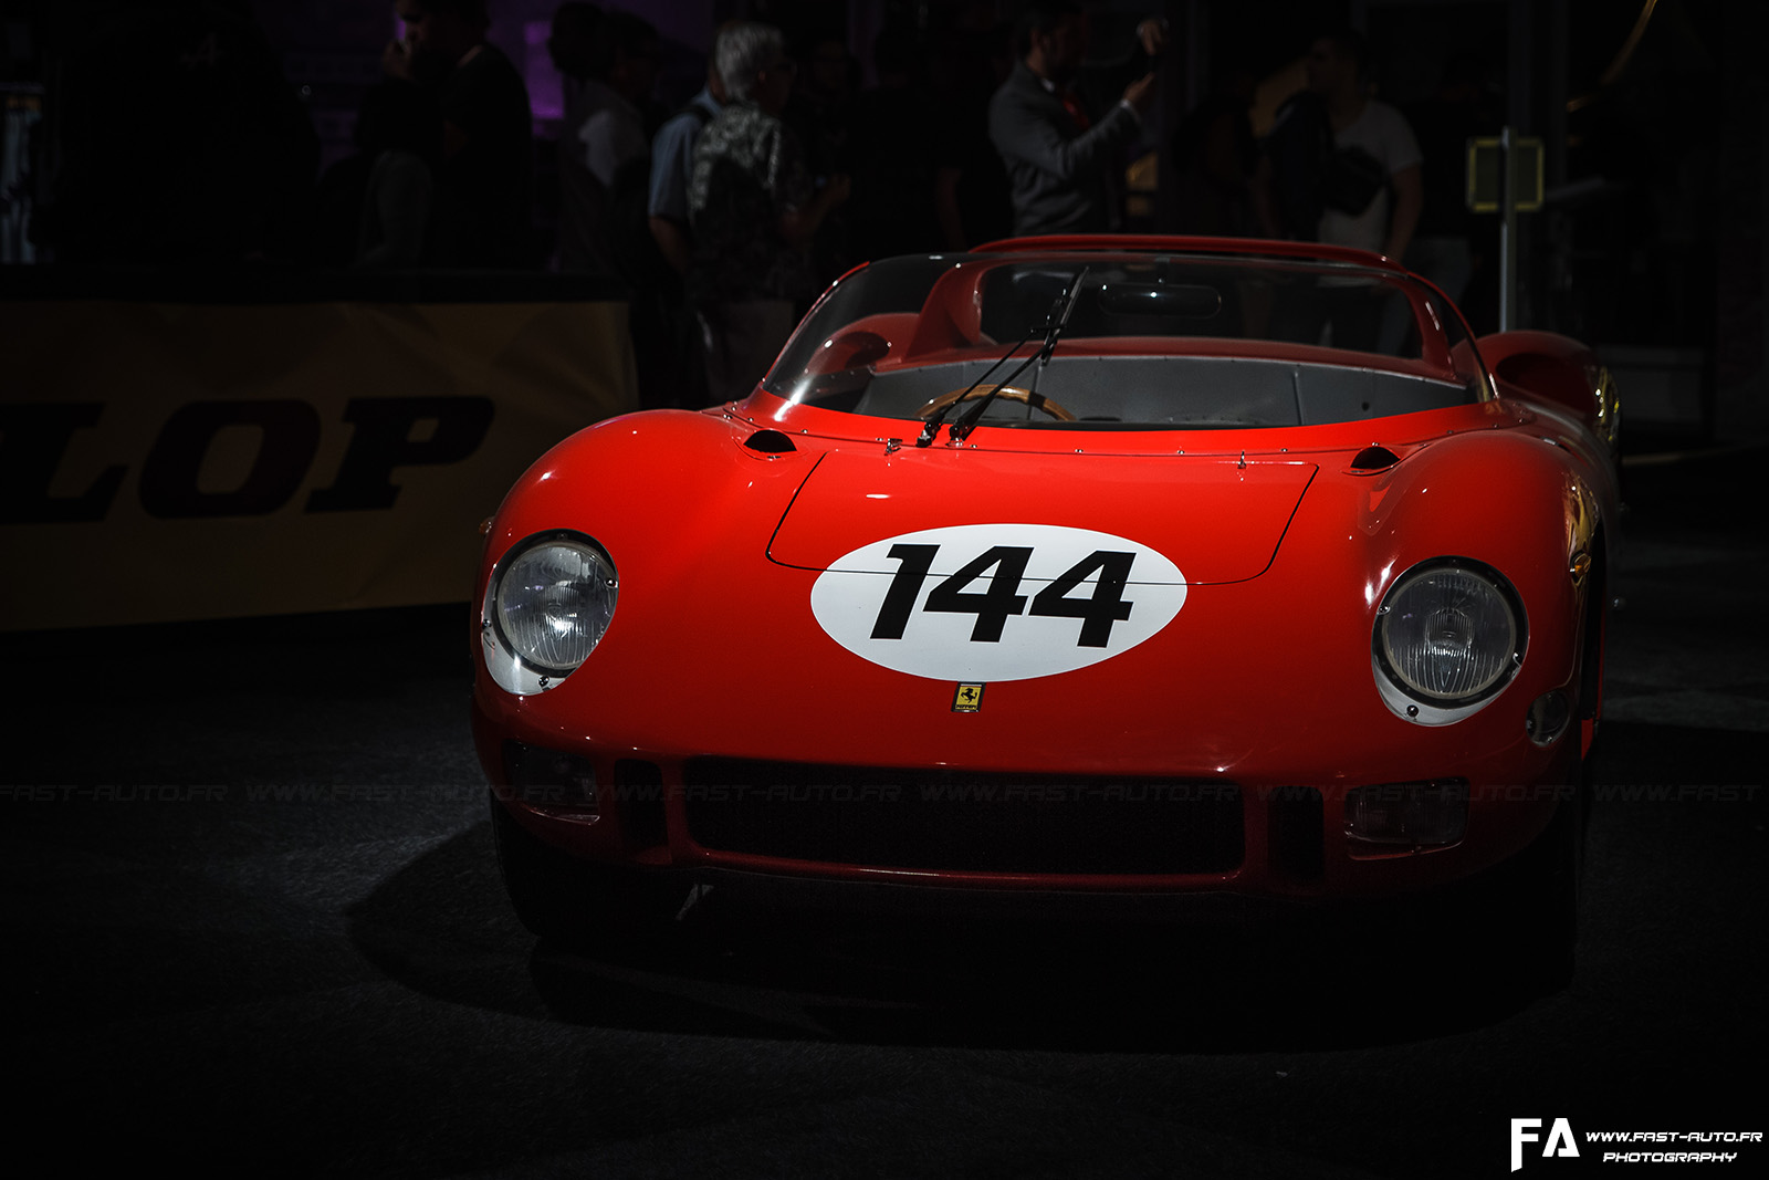
[[[1306,462],[1224,456],[831,451],[800,487],[768,556],[803,570],[849,568],[844,557],[856,550],[888,556],[909,534],[975,533],[982,552],[1010,540],[989,525],[1024,525],[1024,540],[1040,531],[1123,538],[1173,566],[1139,561],[1137,582],[1244,582],[1272,563],[1313,478]],[[899,563],[869,564],[895,571]],[[943,564],[950,559],[934,573]]]

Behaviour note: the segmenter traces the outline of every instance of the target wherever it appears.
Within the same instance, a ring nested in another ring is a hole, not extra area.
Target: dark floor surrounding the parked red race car
[[[1314,925],[538,952],[453,609],[9,637],[16,1166],[1493,1176],[1512,1118],[1769,1130],[1762,458],[1629,472],[1578,971],[1534,1001]]]

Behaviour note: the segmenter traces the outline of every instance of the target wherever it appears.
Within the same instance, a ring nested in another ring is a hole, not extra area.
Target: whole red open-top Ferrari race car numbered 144
[[[699,897],[1042,915],[1505,883],[1569,966],[1619,407],[1360,251],[856,269],[743,402],[490,522],[472,722],[548,936]]]

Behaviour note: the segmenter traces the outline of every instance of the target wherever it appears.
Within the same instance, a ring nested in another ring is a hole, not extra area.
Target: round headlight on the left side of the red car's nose
[[[617,593],[614,561],[582,533],[541,533],[513,545],[479,607],[492,678],[518,695],[555,686],[601,642]]]

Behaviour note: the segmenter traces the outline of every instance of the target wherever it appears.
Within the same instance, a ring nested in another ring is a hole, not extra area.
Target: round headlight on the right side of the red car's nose
[[[1497,570],[1436,557],[1403,573],[1382,598],[1371,665],[1394,713],[1449,725],[1511,683],[1527,642],[1523,605]]]

